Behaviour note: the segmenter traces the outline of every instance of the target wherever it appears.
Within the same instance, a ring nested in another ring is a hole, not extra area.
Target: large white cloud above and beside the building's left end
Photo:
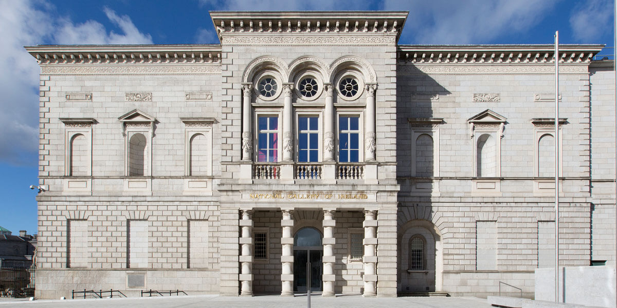
[[[0,161],[38,163],[39,68],[23,46],[36,44],[151,44],[131,19],[105,9],[120,33],[88,20],[75,25],[43,0],[0,0]]]

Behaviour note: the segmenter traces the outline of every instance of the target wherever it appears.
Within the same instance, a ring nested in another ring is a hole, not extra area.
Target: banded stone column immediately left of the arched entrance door
[[[281,272],[281,296],[294,295],[294,217],[291,209],[283,209],[283,220],[281,220],[281,228],[283,235],[281,236],[281,262],[283,270]]]

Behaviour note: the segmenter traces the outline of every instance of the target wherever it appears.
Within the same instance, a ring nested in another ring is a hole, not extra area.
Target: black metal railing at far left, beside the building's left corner
[[[26,298],[35,294],[35,267],[0,269],[0,297]]]

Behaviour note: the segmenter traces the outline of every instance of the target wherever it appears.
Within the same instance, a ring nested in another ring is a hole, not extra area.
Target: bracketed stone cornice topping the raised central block
[[[408,12],[210,12],[218,38],[259,34],[395,36]]]

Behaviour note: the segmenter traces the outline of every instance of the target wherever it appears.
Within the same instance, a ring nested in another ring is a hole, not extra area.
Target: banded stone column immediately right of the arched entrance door
[[[323,292],[321,296],[334,296],[334,245],[336,244],[336,238],[334,238],[334,226],[336,221],[334,220],[334,210],[325,209],[323,211]]]

